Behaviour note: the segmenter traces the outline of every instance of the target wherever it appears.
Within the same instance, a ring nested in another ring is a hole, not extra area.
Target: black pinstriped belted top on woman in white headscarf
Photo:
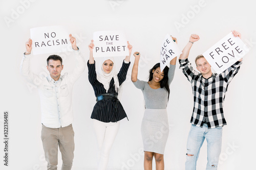
[[[131,62],[129,62],[128,64],[124,62],[122,63],[122,67],[120,68],[120,71],[117,74],[119,86],[125,81],[130,64]],[[88,65],[89,82],[93,86],[95,96],[99,94],[104,94],[104,93],[111,93],[116,95],[118,94],[115,91],[114,78],[112,78],[112,80],[110,81],[110,88],[108,92],[106,92],[106,89],[104,88],[103,84],[97,80],[97,74],[95,70],[95,61],[94,61],[94,64],[89,64],[89,61],[88,61],[87,65]],[[117,103],[117,111],[115,110],[115,108],[116,108],[115,99],[104,99],[104,100],[98,101],[93,108],[91,118],[97,119],[101,122],[109,123],[109,122],[117,122],[123,119],[124,117],[127,117],[119,100]]]

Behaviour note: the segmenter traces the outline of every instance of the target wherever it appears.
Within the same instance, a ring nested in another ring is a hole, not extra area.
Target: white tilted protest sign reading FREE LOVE
[[[216,73],[220,74],[246,55],[248,49],[239,37],[234,37],[232,33],[229,33],[210,47],[203,56]]]

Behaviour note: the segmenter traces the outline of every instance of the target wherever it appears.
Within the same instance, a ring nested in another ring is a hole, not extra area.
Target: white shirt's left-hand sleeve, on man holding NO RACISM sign
[[[39,76],[35,75],[33,72],[30,71],[30,58],[31,55],[23,55],[22,62],[20,63],[20,73],[29,81],[33,82],[36,86],[38,86],[42,79]]]

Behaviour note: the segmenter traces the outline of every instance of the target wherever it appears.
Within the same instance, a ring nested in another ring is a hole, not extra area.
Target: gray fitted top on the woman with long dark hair
[[[175,72],[176,65],[170,64],[169,71],[168,71],[168,84],[173,81],[174,79],[174,72]],[[135,87],[141,89],[146,109],[166,109],[167,107],[167,99],[168,99],[168,92],[165,88],[158,88],[153,89],[150,85],[145,82],[137,79],[134,82]]]

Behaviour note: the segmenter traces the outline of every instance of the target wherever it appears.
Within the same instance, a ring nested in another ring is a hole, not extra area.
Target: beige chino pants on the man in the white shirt
[[[48,170],[57,169],[58,146],[62,157],[61,170],[70,170],[74,159],[74,131],[72,124],[63,128],[48,128],[42,125],[42,146],[44,147]]]

